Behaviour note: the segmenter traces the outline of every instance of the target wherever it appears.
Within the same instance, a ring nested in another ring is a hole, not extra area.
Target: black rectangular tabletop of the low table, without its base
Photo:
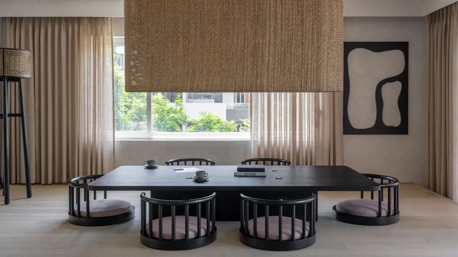
[[[148,191],[378,191],[379,184],[347,166],[266,166],[266,177],[234,177],[237,166],[179,166],[202,168],[208,181],[186,179],[177,166],[121,166],[89,184],[89,190]],[[278,170],[273,172],[270,170]],[[280,177],[282,179],[275,179]]]

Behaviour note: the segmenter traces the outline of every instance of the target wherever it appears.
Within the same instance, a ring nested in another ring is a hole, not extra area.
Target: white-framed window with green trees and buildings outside
[[[126,93],[124,43],[120,38],[115,42],[117,138],[250,138],[250,110],[245,93]]]

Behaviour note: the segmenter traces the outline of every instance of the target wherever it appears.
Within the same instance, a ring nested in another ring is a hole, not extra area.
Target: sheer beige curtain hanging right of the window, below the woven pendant
[[[343,165],[342,93],[251,94],[251,157]]]

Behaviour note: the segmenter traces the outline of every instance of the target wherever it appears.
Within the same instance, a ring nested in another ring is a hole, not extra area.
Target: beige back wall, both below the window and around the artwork
[[[345,41],[409,41],[409,135],[345,135],[344,162],[361,173],[381,173],[425,184],[426,18],[346,17]],[[208,157],[237,164],[249,157],[249,141],[117,140],[116,166],[148,158]]]

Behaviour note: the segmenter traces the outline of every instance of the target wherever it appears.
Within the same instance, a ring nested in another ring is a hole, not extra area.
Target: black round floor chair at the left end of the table
[[[79,226],[105,226],[125,222],[135,217],[135,207],[131,203],[119,199],[107,199],[107,191],[104,191],[103,199],[97,199],[97,191],[93,191],[93,199],[89,199],[91,191],[87,190],[87,184],[102,176],[87,175],[70,180],[68,183],[70,223]],[[83,202],[81,202],[80,189],[83,190]]]

